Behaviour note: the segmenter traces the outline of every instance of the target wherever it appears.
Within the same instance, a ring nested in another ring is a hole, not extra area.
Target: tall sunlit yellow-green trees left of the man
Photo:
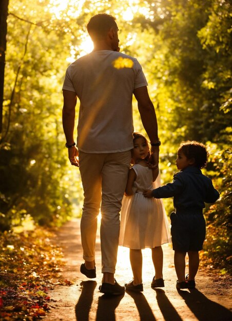
[[[69,176],[79,184],[80,175],[67,168],[61,124],[68,39],[45,9],[41,2],[33,10],[17,4],[9,8],[0,146],[2,230],[25,211],[43,225],[62,223],[72,215],[72,202],[81,200],[79,193],[72,194]]]

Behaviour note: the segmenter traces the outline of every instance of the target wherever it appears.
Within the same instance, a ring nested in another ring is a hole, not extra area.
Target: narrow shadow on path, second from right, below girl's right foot
[[[156,291],[157,303],[165,321],[182,321],[182,318],[178,314],[177,310],[167,298],[165,291],[162,289],[154,289],[154,291]]]

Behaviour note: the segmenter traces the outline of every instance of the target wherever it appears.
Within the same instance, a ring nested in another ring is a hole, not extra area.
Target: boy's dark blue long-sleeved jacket
[[[218,191],[210,178],[194,166],[188,166],[173,176],[173,182],[152,191],[155,198],[173,198],[176,209],[203,209],[205,203],[215,203],[219,198]]]

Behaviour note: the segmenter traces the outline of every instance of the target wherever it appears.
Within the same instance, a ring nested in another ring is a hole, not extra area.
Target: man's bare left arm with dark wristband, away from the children
[[[63,129],[66,137],[66,143],[74,143],[73,132],[75,126],[75,106],[77,96],[74,91],[63,90],[64,106],[62,111]],[[78,149],[74,146],[68,148],[68,157],[72,165],[79,166]]]

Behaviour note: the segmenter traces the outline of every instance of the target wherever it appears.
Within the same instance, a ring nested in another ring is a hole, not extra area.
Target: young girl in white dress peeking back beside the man
[[[151,287],[164,287],[161,245],[170,242],[170,233],[162,200],[143,196],[144,190],[160,186],[159,168],[148,167],[150,152],[147,139],[133,133],[133,146],[131,156],[134,165],[128,174],[122,202],[119,245],[130,248],[133,279],[125,284],[126,290],[140,292],[143,291],[141,250],[144,248],[151,248],[156,272]]]

